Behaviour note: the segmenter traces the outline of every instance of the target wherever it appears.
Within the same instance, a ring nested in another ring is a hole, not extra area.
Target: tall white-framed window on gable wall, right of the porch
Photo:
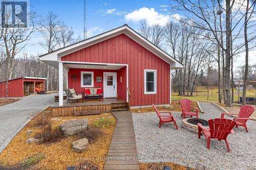
[[[157,93],[157,70],[155,69],[144,70],[144,93],[145,94]]]

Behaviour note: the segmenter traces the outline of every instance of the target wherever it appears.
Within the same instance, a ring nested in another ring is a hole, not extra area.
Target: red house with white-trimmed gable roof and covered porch
[[[63,105],[63,74],[67,87],[83,91],[101,87],[103,98],[131,106],[170,103],[170,70],[183,65],[127,25],[40,56],[59,69],[59,106]]]

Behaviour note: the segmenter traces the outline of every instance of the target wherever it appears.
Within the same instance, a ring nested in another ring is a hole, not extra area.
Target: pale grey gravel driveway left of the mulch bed
[[[56,93],[26,96],[18,102],[0,106],[0,153],[33,113],[54,104],[54,95]]]

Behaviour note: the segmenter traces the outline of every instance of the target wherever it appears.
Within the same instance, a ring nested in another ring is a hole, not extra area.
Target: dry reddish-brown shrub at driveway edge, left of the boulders
[[[37,111],[36,113],[33,114],[34,118],[34,122],[36,126],[45,126],[47,124],[50,123],[50,119],[51,119],[51,112],[49,111],[44,111],[44,112],[40,112]]]

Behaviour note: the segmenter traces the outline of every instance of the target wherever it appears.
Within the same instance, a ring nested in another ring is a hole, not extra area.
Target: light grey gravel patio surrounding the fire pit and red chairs
[[[203,119],[217,118],[222,111],[211,103],[200,103]],[[234,128],[236,134],[228,136],[230,152],[225,141],[211,139],[210,150],[206,139],[181,128],[181,113],[173,113],[179,130],[173,123],[158,128],[156,113],[134,113],[133,123],[141,162],[182,162],[202,169],[256,169],[256,126],[253,120],[247,122],[249,133],[242,127]],[[229,118],[227,116],[227,118]]]

